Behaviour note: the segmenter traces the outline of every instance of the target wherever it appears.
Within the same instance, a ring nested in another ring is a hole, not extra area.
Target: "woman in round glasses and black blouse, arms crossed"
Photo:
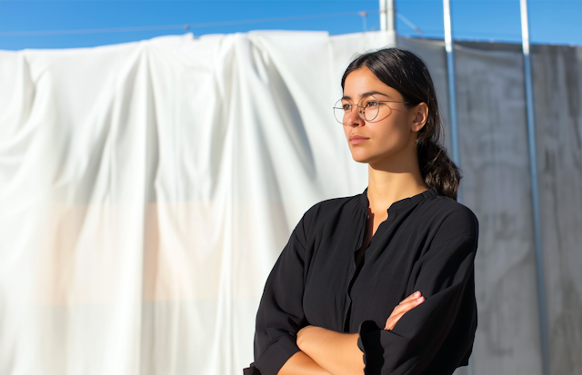
[[[246,373],[450,374],[477,328],[477,218],[439,145],[426,65],[363,54],[334,108],[368,187],[306,212],[266,281]]]

